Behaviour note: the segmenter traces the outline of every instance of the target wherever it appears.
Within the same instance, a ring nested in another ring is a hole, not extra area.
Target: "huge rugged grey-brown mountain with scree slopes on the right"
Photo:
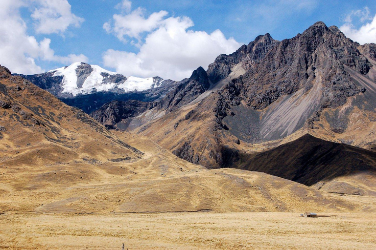
[[[210,168],[305,133],[376,148],[375,51],[323,22],[283,41],[258,36],[127,117],[127,130]]]

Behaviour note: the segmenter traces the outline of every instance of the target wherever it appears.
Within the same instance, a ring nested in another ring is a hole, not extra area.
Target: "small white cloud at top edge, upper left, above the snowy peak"
[[[84,21],[71,12],[67,0],[37,0],[37,7],[31,14],[36,21],[36,31],[41,34],[62,33],[69,26],[80,27]]]

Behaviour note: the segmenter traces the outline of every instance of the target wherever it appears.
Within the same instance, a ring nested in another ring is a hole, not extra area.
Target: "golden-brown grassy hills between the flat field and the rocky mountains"
[[[268,174],[190,164],[143,136],[109,132],[4,67],[0,91],[0,213],[375,207]]]

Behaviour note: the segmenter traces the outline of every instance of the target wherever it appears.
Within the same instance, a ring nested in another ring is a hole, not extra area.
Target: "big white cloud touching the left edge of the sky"
[[[64,3],[65,0],[59,2]],[[37,41],[34,36],[27,34],[27,26],[21,18],[20,8],[39,3],[42,8],[46,7],[44,5],[46,1],[1,0],[0,34],[3,35],[0,36],[0,64],[15,73],[35,74],[43,72],[36,60],[67,64],[87,61],[87,57],[82,54],[57,56],[50,48],[50,39],[45,38],[42,41]],[[58,30],[62,31],[61,27],[58,27]]]

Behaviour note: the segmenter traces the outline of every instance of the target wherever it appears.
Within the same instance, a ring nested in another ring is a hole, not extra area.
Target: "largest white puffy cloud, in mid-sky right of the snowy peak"
[[[234,52],[240,43],[227,39],[220,30],[211,34],[192,31],[188,17],[169,17],[160,11],[145,18],[142,9],[127,14],[115,14],[113,24],[104,28],[119,40],[136,38],[138,53],[109,49],[103,54],[105,66],[116,68],[124,75],[140,77],[161,76],[181,80],[189,77],[199,66],[206,67],[220,54]],[[147,32],[144,42],[142,33]]]

